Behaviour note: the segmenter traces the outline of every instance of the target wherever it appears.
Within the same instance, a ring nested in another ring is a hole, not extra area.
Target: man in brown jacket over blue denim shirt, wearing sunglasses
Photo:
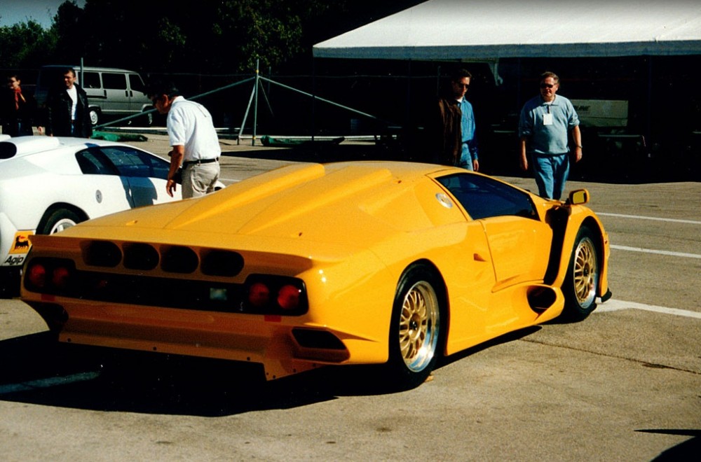
[[[438,100],[437,128],[431,136],[438,143],[437,163],[479,170],[475,113],[465,98],[472,74],[460,69],[450,80],[450,92]]]

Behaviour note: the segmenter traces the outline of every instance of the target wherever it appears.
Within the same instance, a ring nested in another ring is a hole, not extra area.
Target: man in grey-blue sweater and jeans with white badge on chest
[[[575,144],[573,159],[582,159],[579,117],[569,99],[556,96],[558,89],[559,77],[543,73],[540,94],[526,102],[519,118],[521,168],[527,172],[530,159],[538,195],[557,200],[569,176],[570,132]]]

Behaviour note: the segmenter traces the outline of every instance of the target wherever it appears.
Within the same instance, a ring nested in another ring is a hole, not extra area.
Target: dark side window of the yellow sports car
[[[491,216],[536,218],[528,194],[486,176],[455,174],[437,180],[475,220]]]

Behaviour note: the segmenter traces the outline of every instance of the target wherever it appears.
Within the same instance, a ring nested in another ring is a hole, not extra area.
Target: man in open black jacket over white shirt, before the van
[[[64,85],[53,87],[46,98],[46,134],[50,137],[90,138],[88,95],[76,83],[76,71],[64,69]]]

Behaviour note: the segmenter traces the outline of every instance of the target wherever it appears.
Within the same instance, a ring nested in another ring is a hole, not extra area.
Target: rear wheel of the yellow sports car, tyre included
[[[390,325],[390,379],[400,389],[414,388],[435,367],[440,344],[442,297],[440,279],[425,265],[404,272]]]

